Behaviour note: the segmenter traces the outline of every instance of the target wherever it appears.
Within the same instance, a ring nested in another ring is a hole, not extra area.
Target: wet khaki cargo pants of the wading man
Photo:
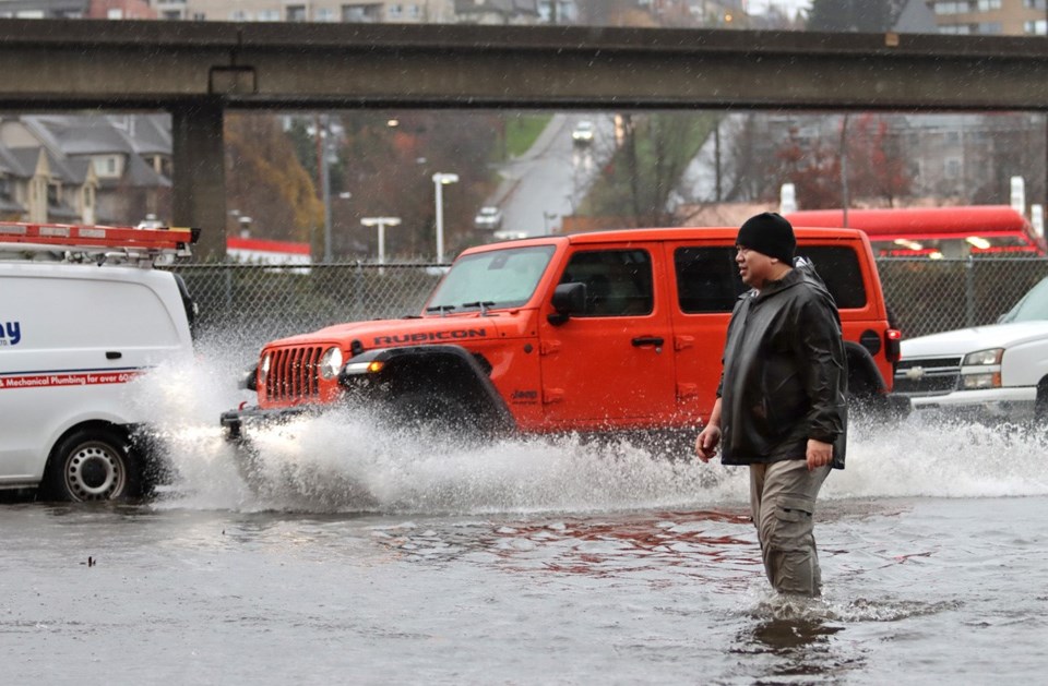
[[[750,465],[750,506],[764,571],[781,593],[821,592],[812,529],[815,496],[829,473],[830,466],[808,471],[808,462],[802,459]]]

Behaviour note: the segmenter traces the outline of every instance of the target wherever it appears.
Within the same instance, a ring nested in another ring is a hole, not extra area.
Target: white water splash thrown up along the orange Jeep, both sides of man
[[[365,411],[299,419],[255,436],[263,488],[248,488],[219,414],[249,392],[229,370],[239,351],[209,350],[192,365],[157,369],[132,390],[159,417],[180,507],[428,514],[701,508],[746,504],[747,472],[650,446],[573,437],[486,445],[434,443],[391,430]],[[998,497],[1048,494],[1039,436],[1019,428],[932,423],[854,425],[848,467],[826,481],[829,500]]]

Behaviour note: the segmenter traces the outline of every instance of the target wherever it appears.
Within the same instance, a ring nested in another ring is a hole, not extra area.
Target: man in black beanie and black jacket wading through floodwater
[[[847,364],[833,298],[774,213],[747,219],[735,262],[752,290],[728,323],[710,422],[695,440],[706,462],[749,465],[750,506],[775,590],[819,595],[812,516],[831,467],[844,469]]]

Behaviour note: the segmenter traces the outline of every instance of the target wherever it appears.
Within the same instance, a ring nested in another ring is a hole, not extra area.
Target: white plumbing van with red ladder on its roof
[[[0,489],[135,497],[150,418],[128,384],[192,356],[192,301],[154,264],[194,232],[0,222]]]

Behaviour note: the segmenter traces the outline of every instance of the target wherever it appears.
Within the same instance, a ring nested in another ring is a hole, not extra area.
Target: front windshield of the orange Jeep
[[[553,245],[528,245],[460,257],[437,285],[427,313],[519,308],[535,292]]]

